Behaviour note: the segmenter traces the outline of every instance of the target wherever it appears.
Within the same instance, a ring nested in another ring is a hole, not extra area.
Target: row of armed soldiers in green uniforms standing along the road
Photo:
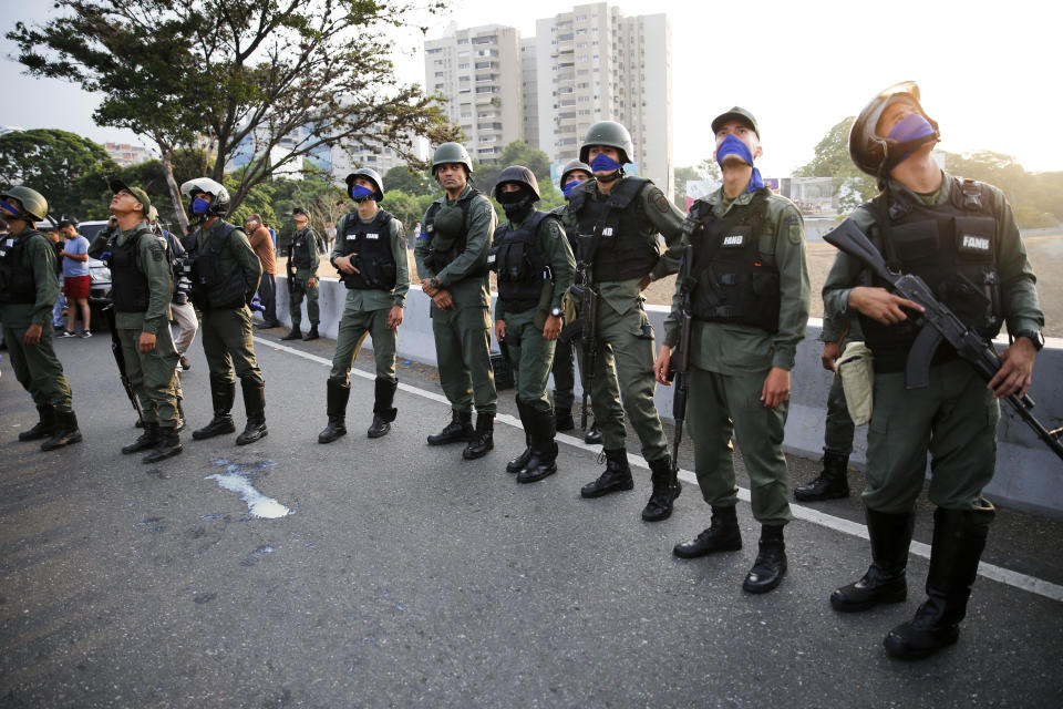
[[[535,209],[539,191],[529,169],[503,169],[493,195],[505,212],[503,225],[496,224],[488,198],[472,185],[465,148],[457,143],[437,147],[432,174],[444,194],[424,215],[414,255],[421,288],[432,299],[440,380],[452,419],[427,442],[464,443],[466,460],[494,448],[493,327],[515,372],[526,434],[525,450],[506,470],[522,483],[555,473],[556,432],[575,427],[572,353],[584,352],[580,371],[600,429],[606,469],[581,495],[594,499],[633,487],[627,419],[651,471],[642,518],[665,520],[682,487],[653,393],[656,383],[670,386],[673,354],[682,349],[691,392],[687,430],[701,494],[712,512],[710,526],[677,544],[674,554],[693,558],[742,547],[733,439],[750,476],[753,516],[761,525],[756,561],[742,586],[765,593],[786,573],[783,530],[793,518],[782,444],[791,371],[811,300],[805,233],[797,208],[772,194],[754,166],[762,147],[753,115],[734,107],[711,125],[723,184],[695,202],[689,215],[650,181],[625,174],[634,151],[628,131],[615,122],[590,127],[578,160],[561,175],[567,204],[551,213]],[[1013,343],[1001,353],[1002,367],[989,387],[954,350],[942,346],[930,368],[930,386],[907,389],[901,372],[921,325],[916,317],[921,306],[890,292],[846,254],[838,255],[824,286],[824,364],[838,357],[840,345],[863,333],[876,370],[864,492],[873,563],[859,580],[832,595],[835,609],[859,612],[907,597],[915,502],[928,450],[932,456],[929,496],[937,512],[927,600],[912,620],[884,640],[891,656],[905,659],[926,657],[958,637],[993,516],[981,491],[994,470],[997,399],[1025,393],[1043,345],[1034,276],[1010,206],[997,188],[941,171],[930,154],[939,140],[914,83],[878,94],[854,124],[849,148],[857,166],[879,179],[881,194],[853,218],[892,267],[921,275],[969,327],[991,337],[1007,321]],[[329,260],[349,291],[327,382],[328,425],[320,443],[347,433],[350,369],[367,336],[373,340],[376,368],[368,435],[385,435],[398,413],[395,342],[410,281],[402,225],[380,207],[384,189],[374,171],[355,171],[347,186],[357,209],[339,222]],[[112,188],[117,228],[101,233],[90,253],[111,255],[122,348],[144,411],[144,433],[125,452],[151,449],[145,460],[161,460],[180,452],[176,354],[166,327],[168,263],[164,245],[148,236],[143,224],[151,206],[147,195],[121,183],[112,183]],[[221,185],[199,178],[182,191],[200,224],[187,273],[203,320],[214,404],[214,418],[193,438],[235,431],[230,410],[238,377],[247,427],[237,443],[250,443],[267,434],[265,388],[247,308],[261,268],[242,229],[224,220],[228,194]],[[20,439],[48,435],[43,448],[51,450],[80,440],[80,433],[50,335],[41,329],[56,287],[48,263],[51,249],[32,238],[33,220],[43,218],[47,205],[27,187],[0,197],[0,209],[12,225],[12,238],[0,250],[6,278],[0,317],[8,341],[16,343],[12,364],[19,380],[41,411],[40,423]],[[312,240],[303,226],[291,251],[303,291],[317,288]],[[307,242],[310,246],[300,250],[299,244]],[[492,270],[498,287],[494,325]],[[640,294],[651,281],[677,273],[663,342],[654,352],[654,332]],[[587,292],[592,298],[570,295]],[[309,315],[316,336],[316,308]],[[283,339],[296,337],[293,316],[292,331]],[[547,394],[551,369],[558,387],[553,405]],[[833,388],[830,395],[833,409],[840,411],[840,391]],[[824,475],[798,489],[798,499],[848,494],[852,423],[836,430],[842,435],[828,438]]]

